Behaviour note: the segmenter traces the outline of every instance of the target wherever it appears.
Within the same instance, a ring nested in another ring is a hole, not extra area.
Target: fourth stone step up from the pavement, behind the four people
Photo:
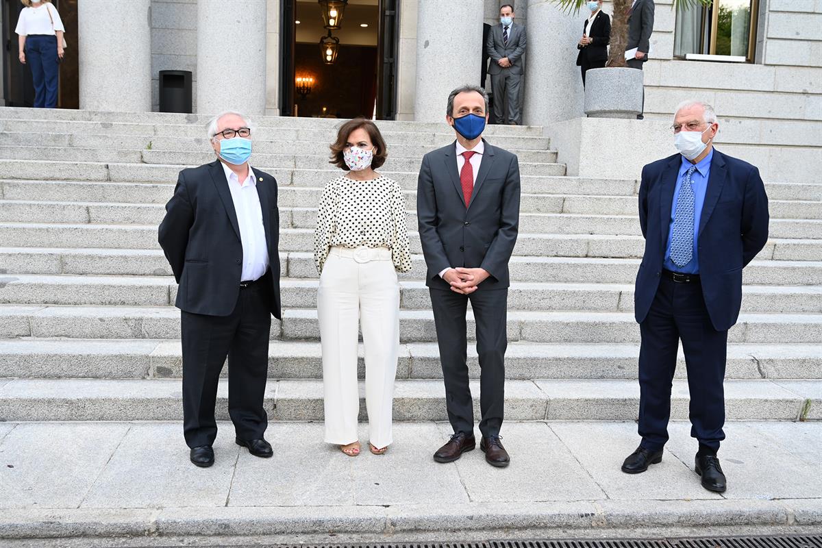
[[[283,306],[316,308],[317,279],[280,280]],[[423,281],[403,280],[400,307],[429,310]],[[78,306],[173,306],[177,283],[171,276],[0,275],[0,304]],[[510,311],[626,311],[634,309],[633,284],[522,283],[508,293]],[[742,311],[822,313],[822,286],[746,286]]]

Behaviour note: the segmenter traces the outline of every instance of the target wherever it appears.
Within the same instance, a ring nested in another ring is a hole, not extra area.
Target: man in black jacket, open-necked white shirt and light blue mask
[[[271,315],[280,318],[279,211],[274,177],[248,165],[251,129],[239,113],[209,124],[217,160],[180,172],[159,225],[179,284],[183,435],[192,463],[214,463],[219,373],[229,358],[229,416],[236,442],[257,457],[263,434]]]

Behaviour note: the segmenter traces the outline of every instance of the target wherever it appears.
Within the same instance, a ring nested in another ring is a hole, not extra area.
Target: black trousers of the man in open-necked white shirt
[[[182,431],[189,447],[210,445],[217,436],[215,402],[219,373],[229,358],[229,416],[242,440],[263,437],[271,329],[266,284],[241,288],[226,316],[183,311]]]

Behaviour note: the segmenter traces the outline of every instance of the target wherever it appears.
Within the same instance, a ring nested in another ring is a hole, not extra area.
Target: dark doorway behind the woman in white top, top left
[[[67,43],[66,53],[60,64],[58,108],[80,108],[77,2],[78,0],[52,1],[54,7],[60,12],[63,26],[66,27]],[[31,71],[17,59],[17,35],[14,30],[22,11],[23,5],[20,0],[2,0],[2,43],[4,44],[2,85],[3,96],[9,107],[33,107],[35,105],[35,87],[31,83]]]

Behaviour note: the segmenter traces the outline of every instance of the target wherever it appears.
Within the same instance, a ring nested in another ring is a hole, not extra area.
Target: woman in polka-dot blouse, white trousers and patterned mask
[[[386,160],[386,141],[374,122],[345,122],[331,152],[330,163],[349,173],[326,185],[316,222],[325,439],[351,457],[360,452],[359,323],[365,347],[369,448],[373,454],[385,454],[393,440],[399,354],[396,273],[411,269],[405,198],[397,182],[374,171]]]

